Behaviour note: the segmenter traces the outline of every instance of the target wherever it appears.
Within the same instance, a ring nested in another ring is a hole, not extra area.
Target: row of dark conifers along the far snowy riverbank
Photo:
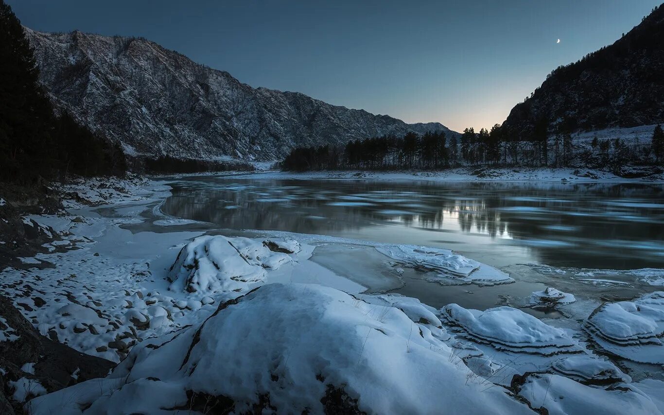
[[[545,120],[535,124],[530,139],[515,138],[499,124],[475,132],[472,127],[449,138],[443,131],[401,137],[384,135],[349,141],[345,146],[297,147],[282,161],[289,171],[337,169],[446,169],[466,166],[616,167],[627,163],[664,162],[661,125],[649,143],[594,137],[590,145],[574,143],[568,132],[550,131]]]

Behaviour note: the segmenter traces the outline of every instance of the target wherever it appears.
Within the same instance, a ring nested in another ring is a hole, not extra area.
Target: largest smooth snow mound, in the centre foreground
[[[425,328],[396,307],[333,288],[268,284],[223,303],[204,323],[137,345],[107,378],[40,396],[29,408],[532,413],[455,362]]]

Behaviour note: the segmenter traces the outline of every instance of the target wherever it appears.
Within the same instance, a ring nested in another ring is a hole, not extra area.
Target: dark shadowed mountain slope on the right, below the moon
[[[550,131],[594,131],[664,122],[664,7],[610,46],[560,66],[503,123],[528,139]]]

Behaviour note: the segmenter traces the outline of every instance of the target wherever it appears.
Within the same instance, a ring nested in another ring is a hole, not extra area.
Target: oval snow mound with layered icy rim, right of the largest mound
[[[578,343],[564,331],[513,307],[479,311],[448,304],[440,311],[461,337],[499,351],[542,356],[580,352]]]

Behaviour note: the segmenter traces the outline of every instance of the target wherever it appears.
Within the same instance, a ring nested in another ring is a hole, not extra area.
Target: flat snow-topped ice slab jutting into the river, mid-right
[[[437,282],[450,284],[505,284],[514,282],[504,272],[475,260],[455,254],[452,250],[416,245],[376,246],[376,250],[396,264],[418,270],[436,272]]]

